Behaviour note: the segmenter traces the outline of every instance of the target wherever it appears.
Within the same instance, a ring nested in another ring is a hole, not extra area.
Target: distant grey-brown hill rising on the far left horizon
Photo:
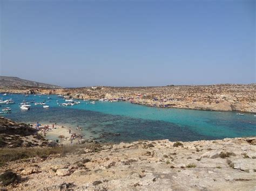
[[[0,76],[0,87],[60,88],[51,84],[23,80],[19,77]]]

